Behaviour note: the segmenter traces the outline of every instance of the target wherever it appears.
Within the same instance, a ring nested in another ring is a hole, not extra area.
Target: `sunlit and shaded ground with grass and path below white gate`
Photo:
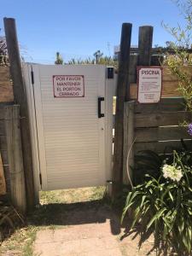
[[[103,195],[104,188],[42,193],[26,227],[3,241],[1,255],[156,255],[150,238],[138,250],[139,236],[125,232],[127,224],[120,225],[119,211]]]

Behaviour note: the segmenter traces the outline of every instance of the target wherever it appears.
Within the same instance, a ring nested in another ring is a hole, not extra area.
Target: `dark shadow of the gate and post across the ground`
[[[52,203],[40,205],[28,218],[28,224],[37,226],[68,226],[105,223],[110,220],[111,232],[119,235],[119,216],[103,200],[77,203]]]

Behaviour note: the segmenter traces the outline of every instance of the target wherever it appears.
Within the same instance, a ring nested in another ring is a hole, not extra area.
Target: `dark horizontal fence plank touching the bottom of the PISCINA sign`
[[[183,98],[164,98],[154,104],[140,104],[135,102],[135,113],[157,113],[183,111],[185,104]]]

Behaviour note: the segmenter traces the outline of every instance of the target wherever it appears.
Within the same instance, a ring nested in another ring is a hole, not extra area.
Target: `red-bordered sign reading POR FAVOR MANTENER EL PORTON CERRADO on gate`
[[[84,97],[83,75],[54,75],[55,97]]]

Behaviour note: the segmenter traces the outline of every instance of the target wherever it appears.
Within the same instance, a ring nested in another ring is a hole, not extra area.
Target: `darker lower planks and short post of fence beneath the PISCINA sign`
[[[161,98],[159,103],[125,102],[124,112],[124,182],[127,168],[134,166],[134,156],[142,150],[170,154],[181,149],[181,139],[192,149],[192,137],[183,122],[192,121],[192,113],[185,111],[183,98]],[[129,171],[131,169],[129,168]],[[131,171],[130,171],[131,175]]]

